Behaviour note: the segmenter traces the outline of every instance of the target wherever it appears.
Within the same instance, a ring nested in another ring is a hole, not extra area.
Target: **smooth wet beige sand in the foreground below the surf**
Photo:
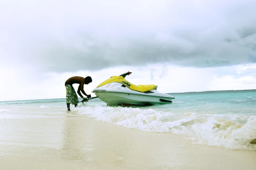
[[[191,144],[85,115],[0,119],[1,170],[252,170],[256,151]]]

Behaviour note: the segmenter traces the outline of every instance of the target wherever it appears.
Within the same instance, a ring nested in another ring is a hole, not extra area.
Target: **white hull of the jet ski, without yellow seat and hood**
[[[168,104],[174,99],[173,96],[159,93],[157,90],[150,90],[152,93],[142,93],[122,87],[121,83],[109,83],[92,92],[108,105],[143,105],[143,104]],[[161,101],[161,100],[167,101]]]

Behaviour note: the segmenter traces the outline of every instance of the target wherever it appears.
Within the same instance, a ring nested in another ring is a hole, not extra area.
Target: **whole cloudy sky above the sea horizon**
[[[163,93],[256,89],[255,7],[255,0],[0,0],[0,101],[65,98],[72,76],[91,76],[84,89],[92,94],[127,71],[132,84]]]

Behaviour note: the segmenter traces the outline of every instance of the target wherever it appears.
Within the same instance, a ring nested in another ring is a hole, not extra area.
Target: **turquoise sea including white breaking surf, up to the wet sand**
[[[148,132],[187,136],[196,144],[256,150],[256,90],[171,93],[173,103],[144,107],[107,106],[100,99],[71,106],[72,114]],[[81,101],[81,99],[79,99]],[[65,99],[0,102],[0,118],[65,116]]]

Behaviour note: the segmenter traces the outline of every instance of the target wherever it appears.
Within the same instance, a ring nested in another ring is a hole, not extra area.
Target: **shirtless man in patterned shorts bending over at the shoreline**
[[[78,97],[76,94],[76,91],[74,89],[74,87],[72,86],[73,84],[77,83],[79,84],[78,89],[77,89],[77,93],[78,95],[84,100],[84,101],[88,101],[87,99],[85,99],[81,92],[87,97],[87,98],[91,98],[91,95],[87,95],[84,92],[84,84],[88,85],[89,83],[92,83],[92,78],[90,76],[87,76],[85,78],[83,77],[79,77],[79,76],[75,76],[75,77],[70,77],[69,79],[67,79],[67,81],[65,82],[65,87],[66,87],[66,103],[67,103],[67,107],[68,107],[68,111],[70,111],[70,103],[75,104],[75,107],[77,107],[77,103],[78,103]],[[81,91],[81,92],[80,92]]]

